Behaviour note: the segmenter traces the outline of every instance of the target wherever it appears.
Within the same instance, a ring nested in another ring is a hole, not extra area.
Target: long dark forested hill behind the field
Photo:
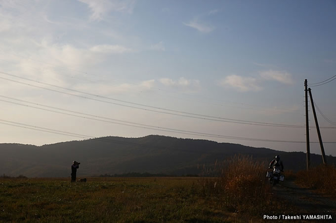
[[[101,174],[164,173],[200,174],[203,165],[213,165],[235,154],[269,162],[280,155],[286,169],[305,168],[302,152],[281,152],[239,144],[209,140],[181,139],[160,135],[141,138],[102,137],[83,141],[61,142],[43,146],[0,144],[0,174],[27,177],[68,177],[73,160],[81,162],[78,176]],[[327,157],[336,163],[335,157]],[[322,162],[311,155],[313,165]],[[265,166],[266,171],[267,166]]]

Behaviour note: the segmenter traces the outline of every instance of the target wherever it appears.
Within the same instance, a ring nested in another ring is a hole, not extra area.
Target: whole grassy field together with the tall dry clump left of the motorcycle
[[[264,214],[291,213],[274,197],[264,164],[235,157],[211,171],[221,175],[0,178],[0,222],[261,222]]]

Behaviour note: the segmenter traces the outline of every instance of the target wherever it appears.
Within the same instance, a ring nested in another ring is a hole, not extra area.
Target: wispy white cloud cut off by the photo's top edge
[[[88,5],[90,19],[100,21],[111,11],[132,13],[135,0],[78,0]]]

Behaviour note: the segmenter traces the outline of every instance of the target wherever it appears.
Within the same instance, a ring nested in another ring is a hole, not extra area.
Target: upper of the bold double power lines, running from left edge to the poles
[[[10,75],[10,76],[16,76],[16,75],[4,73],[4,72],[1,72],[1,71],[0,71],[0,73],[6,74],[6,75]],[[16,76],[16,77],[19,77],[19,76]],[[19,78],[21,78],[21,79],[28,79],[28,78],[23,78],[23,77],[19,77]],[[145,110],[145,111],[152,111],[152,112],[158,112],[158,113],[163,113],[163,114],[169,114],[169,115],[176,115],[176,116],[195,118],[195,119],[203,119],[203,120],[210,120],[210,121],[217,121],[217,122],[227,122],[227,123],[244,124],[244,125],[272,126],[272,127],[302,127],[302,126],[298,126],[298,125],[266,123],[266,122],[254,122],[254,121],[239,120],[239,119],[228,119],[228,118],[222,118],[222,117],[214,117],[214,116],[208,116],[208,115],[202,115],[202,114],[196,114],[196,113],[190,113],[190,112],[177,111],[177,110],[172,110],[172,109],[159,108],[159,107],[154,107],[154,106],[147,106],[147,107],[150,107],[150,108],[158,109],[159,110],[158,111],[158,110],[153,110],[153,109],[148,109],[148,108],[136,107],[136,106],[133,106],[133,105],[126,105],[126,104],[120,104],[120,103],[116,103],[116,102],[112,102],[112,101],[106,101],[106,100],[96,99],[96,98],[87,97],[87,96],[75,95],[75,94],[67,93],[67,92],[64,92],[64,91],[58,91],[58,90],[54,90],[54,89],[44,88],[44,87],[41,87],[41,86],[37,86],[37,85],[33,85],[33,84],[27,84],[27,83],[24,83],[24,82],[15,81],[15,80],[4,78],[4,77],[0,77],[0,79],[11,81],[11,82],[15,82],[15,83],[19,83],[19,84],[23,84],[23,85],[26,85],[26,86],[40,88],[40,89],[47,90],[47,91],[57,92],[57,93],[60,93],[60,94],[66,94],[66,95],[70,95],[70,96],[81,97],[81,98],[95,100],[95,101],[99,101],[99,102],[104,102],[104,103],[109,103],[109,104],[115,104],[115,105],[119,105],[119,106],[130,107],[130,108],[140,109],[140,110]],[[28,80],[30,80],[30,79],[28,79]],[[30,81],[34,81],[34,80],[30,80]],[[34,82],[42,83],[40,81],[34,81]],[[45,84],[45,83],[42,83],[42,84]],[[46,84],[46,85],[54,86],[54,85],[50,85],[50,84]],[[86,94],[86,95],[97,96],[97,95],[93,95],[93,94],[89,94],[89,93],[84,93],[84,92],[77,91],[77,90],[67,89],[67,88],[63,88],[63,87],[59,87],[59,86],[55,86],[55,87],[58,87],[58,88],[61,88],[61,89],[66,89],[66,90],[69,90],[69,91],[78,92],[78,93],[83,93],[83,94]],[[98,97],[103,97],[103,98],[107,98],[107,99],[114,99],[114,98],[109,98],[109,97],[105,97],[105,96],[98,96]],[[123,100],[119,100],[119,99],[114,99],[114,100],[124,102]],[[138,103],[133,103],[133,102],[127,102],[127,103],[132,103],[132,104],[136,104],[136,105],[139,105],[139,106],[146,106],[146,105],[142,105],[142,104],[138,104]],[[160,110],[164,110],[164,111],[160,111]],[[175,113],[172,113],[172,112],[175,112]],[[176,113],[181,113],[181,114],[176,114]]]

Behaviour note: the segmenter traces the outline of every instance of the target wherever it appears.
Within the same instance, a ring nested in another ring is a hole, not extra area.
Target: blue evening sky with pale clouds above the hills
[[[159,134],[304,152],[304,80],[335,71],[333,0],[0,0],[1,143]],[[309,87],[336,156],[323,83]],[[310,105],[309,120],[321,154]]]

